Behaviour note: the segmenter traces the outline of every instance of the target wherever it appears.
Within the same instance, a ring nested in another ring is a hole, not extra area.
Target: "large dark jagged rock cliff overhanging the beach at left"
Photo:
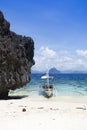
[[[0,11],[0,98],[30,81],[33,56],[32,38],[10,31],[10,23]]]

